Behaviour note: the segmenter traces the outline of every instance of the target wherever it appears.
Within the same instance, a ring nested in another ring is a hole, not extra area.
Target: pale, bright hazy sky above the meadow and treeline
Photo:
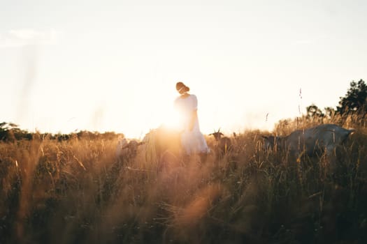
[[[176,82],[203,134],[272,130],[367,79],[367,1],[0,0],[0,122],[34,132],[172,123]]]

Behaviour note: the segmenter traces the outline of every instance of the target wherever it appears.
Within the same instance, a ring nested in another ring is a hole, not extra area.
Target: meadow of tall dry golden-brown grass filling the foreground
[[[366,124],[295,119],[274,133],[326,122],[356,129],[333,171],[324,156],[263,151],[260,130],[164,165],[154,145],[117,162],[117,135],[0,142],[0,243],[367,243]]]

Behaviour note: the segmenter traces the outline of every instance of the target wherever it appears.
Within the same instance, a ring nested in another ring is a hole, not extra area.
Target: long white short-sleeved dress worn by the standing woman
[[[208,145],[203,134],[200,131],[199,119],[196,116],[194,127],[189,130],[189,124],[192,120],[193,112],[197,110],[198,100],[195,95],[189,94],[185,98],[175,99],[175,109],[180,113],[181,143],[188,155],[194,153],[208,153]]]

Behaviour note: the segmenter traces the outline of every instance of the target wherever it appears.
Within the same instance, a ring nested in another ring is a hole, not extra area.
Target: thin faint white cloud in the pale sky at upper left
[[[22,47],[25,45],[55,45],[62,32],[50,29],[48,31],[36,31],[34,29],[10,30],[0,35],[0,48]]]

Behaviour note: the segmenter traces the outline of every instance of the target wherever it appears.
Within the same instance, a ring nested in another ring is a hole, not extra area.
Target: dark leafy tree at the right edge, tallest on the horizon
[[[367,114],[367,85],[363,79],[359,82],[351,82],[350,89],[344,98],[340,97],[336,112],[340,115]]]

